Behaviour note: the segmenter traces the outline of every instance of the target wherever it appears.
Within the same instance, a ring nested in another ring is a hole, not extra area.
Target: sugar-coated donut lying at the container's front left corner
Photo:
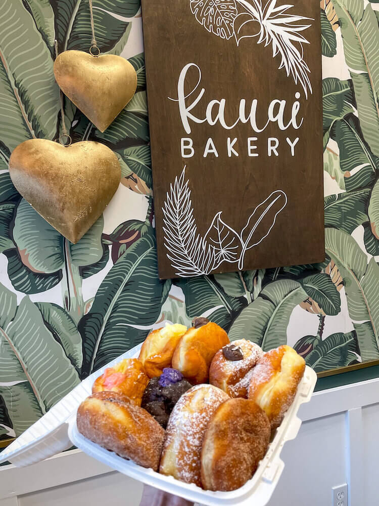
[[[145,409],[119,392],[98,392],[79,406],[76,422],[84,437],[139,466],[158,471],[165,431]]]

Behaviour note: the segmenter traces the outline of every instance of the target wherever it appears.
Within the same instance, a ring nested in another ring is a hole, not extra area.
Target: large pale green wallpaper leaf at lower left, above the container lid
[[[0,304],[0,395],[19,435],[80,379],[28,297],[17,307],[16,295],[0,285]]]

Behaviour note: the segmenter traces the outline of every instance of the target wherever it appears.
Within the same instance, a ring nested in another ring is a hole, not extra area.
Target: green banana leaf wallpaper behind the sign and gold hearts
[[[20,197],[8,160],[26,139],[58,139],[54,39],[88,51],[88,2],[0,0],[0,12],[0,439],[164,322],[203,315],[231,340],[288,343],[317,372],[379,359],[378,0],[320,2],[325,262],[172,281],[157,273],[139,0],[93,0],[102,53],[136,69],[134,98],[103,134],[64,101],[73,141],[106,144],[122,167],[75,245]]]

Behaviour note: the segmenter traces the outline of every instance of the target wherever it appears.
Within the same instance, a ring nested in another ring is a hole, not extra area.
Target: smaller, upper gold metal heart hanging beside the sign
[[[133,65],[116,55],[64,51],[54,62],[54,75],[63,93],[101,132],[133,98],[137,88]]]

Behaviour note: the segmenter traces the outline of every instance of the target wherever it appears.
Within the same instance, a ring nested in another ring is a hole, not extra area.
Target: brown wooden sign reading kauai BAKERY
[[[319,3],[143,0],[161,278],[324,259]]]

